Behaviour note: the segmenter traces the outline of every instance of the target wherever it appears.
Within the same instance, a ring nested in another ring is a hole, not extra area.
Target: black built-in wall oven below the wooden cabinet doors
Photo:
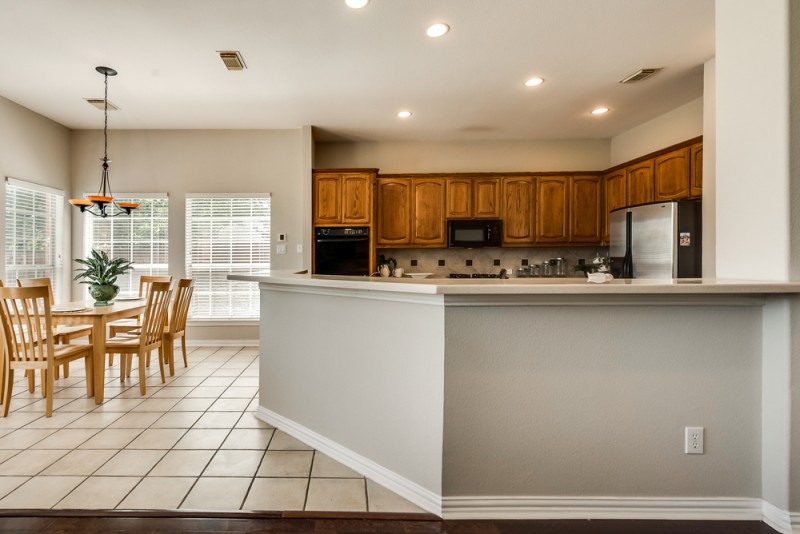
[[[369,276],[369,226],[314,230],[314,273]]]

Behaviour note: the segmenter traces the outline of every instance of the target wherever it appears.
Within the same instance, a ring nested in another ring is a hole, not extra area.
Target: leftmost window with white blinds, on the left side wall
[[[7,285],[17,285],[17,278],[47,276],[56,299],[64,300],[58,249],[64,242],[63,210],[63,191],[6,178]]]

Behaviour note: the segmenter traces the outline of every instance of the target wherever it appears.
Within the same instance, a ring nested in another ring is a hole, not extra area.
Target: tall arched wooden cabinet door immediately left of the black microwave
[[[411,243],[415,246],[445,246],[445,185],[442,178],[414,180],[413,226]]]

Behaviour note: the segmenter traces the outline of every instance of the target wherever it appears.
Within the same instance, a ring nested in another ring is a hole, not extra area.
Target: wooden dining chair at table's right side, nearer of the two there
[[[154,282],[147,294],[147,304],[142,313],[141,330],[138,335],[122,333],[106,340],[108,354],[120,354],[120,381],[130,376],[133,356],[139,358],[139,392],[147,393],[145,386],[145,360],[154,350],[159,351],[158,366],[161,371],[161,382],[165,382],[163,351],[164,326],[167,320],[167,308],[172,290],[169,282]]]

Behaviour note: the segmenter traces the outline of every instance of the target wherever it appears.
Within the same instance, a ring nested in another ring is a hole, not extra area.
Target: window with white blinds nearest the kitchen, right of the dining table
[[[258,284],[227,277],[269,269],[269,227],[269,194],[187,195],[186,276],[195,288],[190,318],[258,318]]]

